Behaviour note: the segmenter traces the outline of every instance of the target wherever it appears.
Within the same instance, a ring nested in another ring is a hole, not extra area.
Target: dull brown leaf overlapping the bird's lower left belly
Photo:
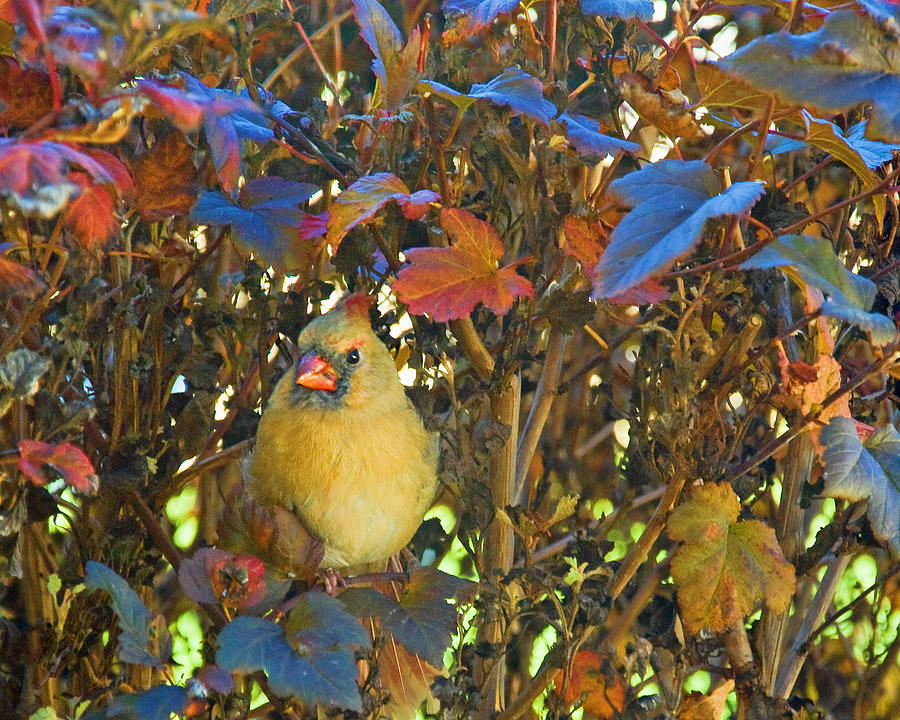
[[[300,580],[315,577],[324,554],[322,542],[307,532],[294,513],[278,505],[263,505],[243,492],[240,483],[225,504],[218,534],[220,543],[232,552],[255,555],[273,570]]]

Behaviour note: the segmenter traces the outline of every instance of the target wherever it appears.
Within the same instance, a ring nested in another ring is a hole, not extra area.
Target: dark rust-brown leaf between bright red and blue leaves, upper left
[[[130,163],[136,186],[135,208],[144,222],[186,214],[197,201],[193,148],[172,131]]]

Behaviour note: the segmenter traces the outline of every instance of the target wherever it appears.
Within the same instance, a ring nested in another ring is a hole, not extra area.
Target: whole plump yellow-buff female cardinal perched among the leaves
[[[412,538],[436,487],[437,438],[406,397],[350,295],[300,333],[245,465],[249,492],[292,509],[339,568],[385,560]]]

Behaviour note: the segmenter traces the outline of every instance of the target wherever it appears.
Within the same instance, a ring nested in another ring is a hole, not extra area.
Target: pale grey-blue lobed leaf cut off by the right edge
[[[824,495],[867,500],[873,534],[900,555],[900,433],[886,425],[863,444],[856,423],[836,417],[822,428],[820,437],[825,443]]]

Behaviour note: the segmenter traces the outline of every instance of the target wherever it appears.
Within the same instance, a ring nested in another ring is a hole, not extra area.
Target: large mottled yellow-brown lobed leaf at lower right
[[[681,544],[672,559],[678,606],[692,633],[724,632],[760,602],[783,612],[794,593],[794,567],[775,532],[759,520],[740,520],[741,504],[728,483],[694,488],[669,518]]]

